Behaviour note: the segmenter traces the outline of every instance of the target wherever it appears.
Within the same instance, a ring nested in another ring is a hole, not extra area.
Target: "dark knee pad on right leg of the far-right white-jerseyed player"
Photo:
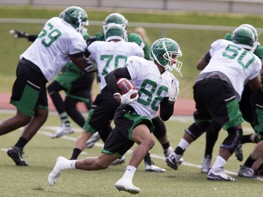
[[[238,144],[240,144],[239,140],[239,130],[236,126],[228,128],[227,129],[227,137],[224,139],[224,142],[220,145],[220,148],[227,149],[231,152],[231,154],[234,153],[236,147]]]

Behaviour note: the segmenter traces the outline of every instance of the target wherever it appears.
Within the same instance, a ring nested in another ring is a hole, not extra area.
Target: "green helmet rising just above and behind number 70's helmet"
[[[120,13],[111,13],[103,22],[103,32],[106,33],[109,24],[117,24],[127,29],[128,20]]]

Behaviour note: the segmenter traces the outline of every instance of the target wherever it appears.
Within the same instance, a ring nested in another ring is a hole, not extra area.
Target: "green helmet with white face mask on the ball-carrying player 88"
[[[181,74],[182,62],[177,60],[177,57],[182,56],[180,46],[173,39],[159,39],[151,46],[151,59],[156,60],[168,72],[175,69],[176,72]],[[171,61],[175,60],[176,63],[172,64]]]

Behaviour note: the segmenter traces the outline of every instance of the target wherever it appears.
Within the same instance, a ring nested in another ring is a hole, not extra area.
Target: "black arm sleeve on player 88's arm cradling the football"
[[[104,79],[107,83],[109,90],[111,90],[112,94],[119,93],[117,88],[117,79],[121,77],[130,79],[130,73],[128,72],[128,69],[126,67],[115,69],[112,72],[109,72],[109,74],[105,76]]]

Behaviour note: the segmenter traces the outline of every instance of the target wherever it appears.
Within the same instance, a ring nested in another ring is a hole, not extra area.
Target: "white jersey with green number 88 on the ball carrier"
[[[130,105],[141,116],[154,118],[160,102],[168,97],[168,83],[179,82],[170,72],[160,73],[154,61],[140,57],[129,57],[126,63],[130,77],[138,90],[139,98]]]

